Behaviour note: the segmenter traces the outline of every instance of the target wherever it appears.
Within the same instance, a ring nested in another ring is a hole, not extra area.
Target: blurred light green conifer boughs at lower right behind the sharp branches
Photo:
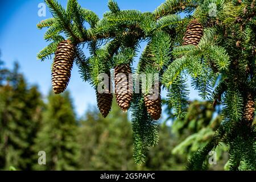
[[[220,126],[222,118],[218,112],[220,108],[215,112],[210,102],[191,102],[186,117],[176,119],[172,125],[172,131],[179,138],[172,154],[189,159],[194,152],[206,146]],[[223,170],[228,160],[226,145],[221,142],[214,151],[217,164],[210,166],[210,169]]]

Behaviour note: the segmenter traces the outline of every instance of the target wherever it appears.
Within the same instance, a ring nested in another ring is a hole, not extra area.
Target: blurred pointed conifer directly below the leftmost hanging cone
[[[77,169],[80,148],[77,144],[77,123],[69,92],[48,96],[43,113],[42,129],[34,150],[46,152],[46,165],[35,164],[37,170]],[[38,158],[38,156],[36,156]]]

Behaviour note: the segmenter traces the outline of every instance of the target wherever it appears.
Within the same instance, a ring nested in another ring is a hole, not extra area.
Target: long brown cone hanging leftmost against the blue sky
[[[52,66],[52,88],[55,94],[64,92],[68,86],[75,59],[75,49],[70,40],[64,40],[57,47]]]

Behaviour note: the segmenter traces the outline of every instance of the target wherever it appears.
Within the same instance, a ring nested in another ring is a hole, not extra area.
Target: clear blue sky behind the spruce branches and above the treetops
[[[36,60],[36,53],[47,46],[43,39],[46,31],[38,30],[36,23],[40,20],[51,18],[47,10],[46,17],[38,16],[38,4],[43,0],[13,0],[3,1],[0,6],[0,50],[1,59],[8,68],[13,67],[14,61],[20,64],[20,71],[24,73],[29,84],[36,84],[44,97],[51,88],[51,64],[52,60],[41,62]],[[67,0],[60,0],[64,7]],[[141,11],[153,11],[164,0],[117,0],[121,9],[138,9]],[[80,0],[80,5],[93,10],[100,17],[108,10],[108,0]],[[96,104],[94,90],[89,84],[82,82],[77,67],[73,68],[71,82],[68,90],[72,94],[76,112],[84,114],[88,106]],[[197,98],[192,90],[191,97]]]

